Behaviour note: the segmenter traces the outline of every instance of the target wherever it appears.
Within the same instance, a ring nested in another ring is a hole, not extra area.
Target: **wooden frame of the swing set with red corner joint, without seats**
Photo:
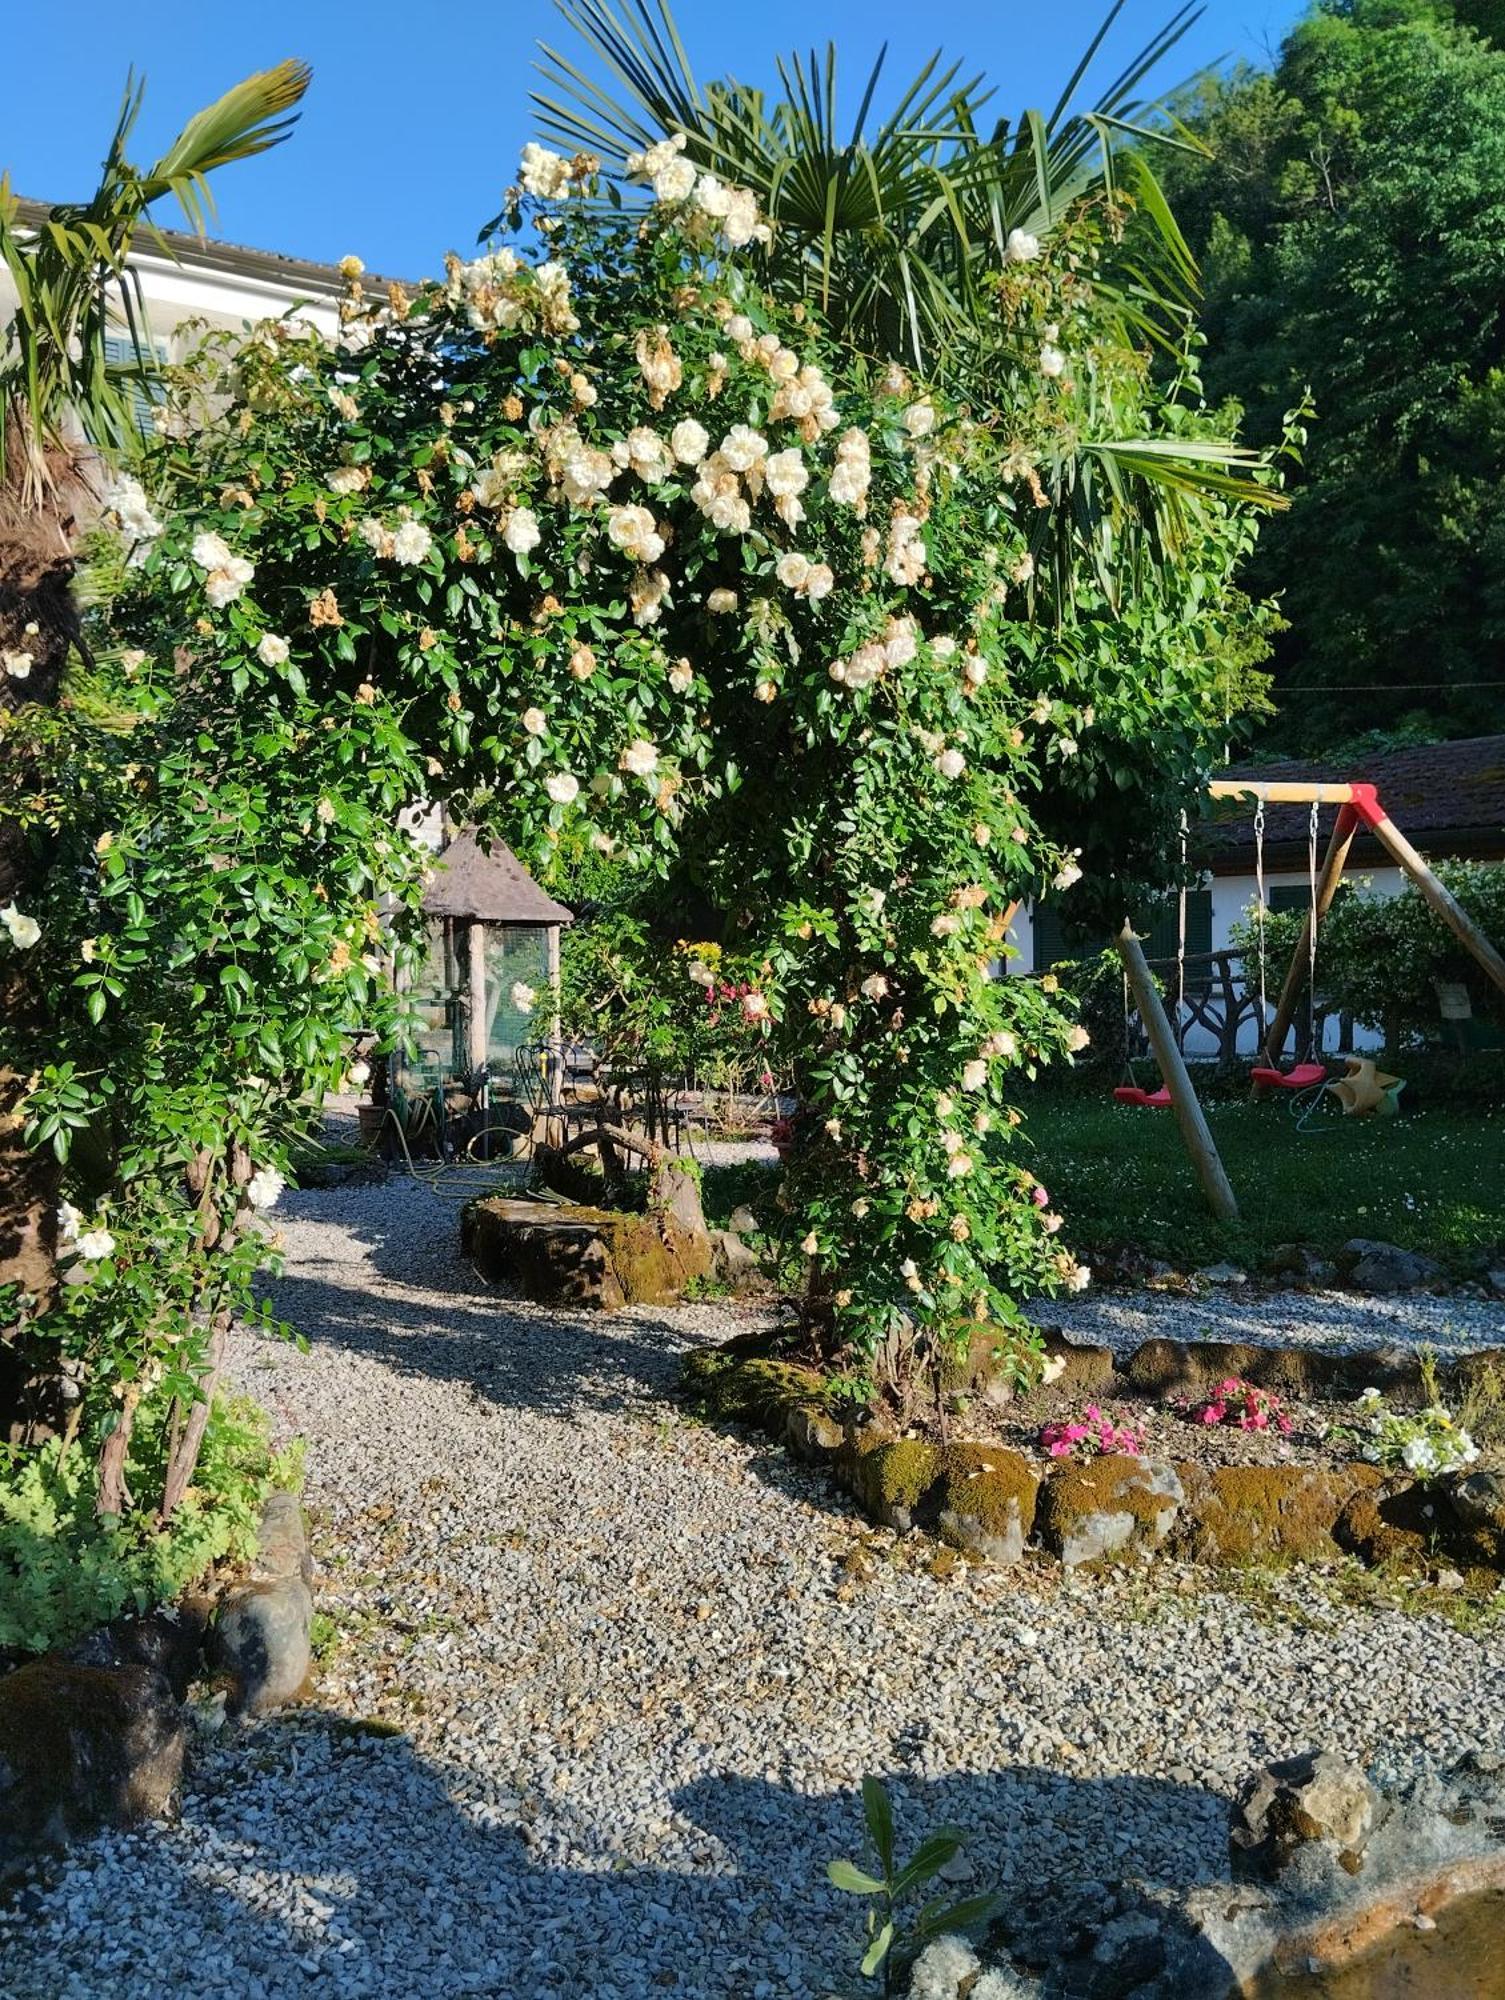
[[[1267,1066],[1279,1068],[1285,1038],[1291,1032],[1297,1002],[1301,1000],[1301,990],[1307,982],[1307,970],[1311,966],[1313,930],[1321,928],[1323,918],[1333,906],[1333,898],[1337,896],[1339,882],[1343,880],[1343,870],[1349,860],[1349,850],[1353,848],[1361,826],[1375,836],[1395,866],[1421,890],[1429,908],[1443,920],[1443,924],[1447,924],[1463,950],[1483,968],[1489,980],[1505,992],[1505,958],[1501,958],[1469,912],[1459,904],[1457,896],[1453,896],[1451,890],[1437,880],[1423,856],[1417,854],[1395,820],[1391,820],[1389,812],[1385,812],[1377,786],[1295,784],[1285,780],[1267,784],[1257,778],[1215,778],[1207,790],[1213,798],[1253,798],[1265,806],[1339,808],[1333,838],[1327,842],[1327,854],[1317,876],[1315,894],[1311,906],[1307,908],[1307,920],[1301,926],[1301,938],[1291,956],[1285,984],[1281,986],[1281,998],[1275,1004],[1275,1014],[1259,1044],[1259,1054]],[[1197,1092],[1193,1090],[1185,1058],[1177,1048],[1175,1030],[1171,1028],[1165,1004],[1161,1002],[1159,990],[1145,962],[1145,952],[1141,950],[1135,928],[1127,918],[1123,930],[1115,938],[1115,944],[1119,948],[1119,956],[1123,958],[1123,970],[1129,978],[1129,988],[1135,996],[1139,1018],[1145,1024],[1151,1050],[1161,1066],[1165,1088],[1171,1092],[1171,1108],[1177,1114],[1181,1138],[1191,1154],[1193,1166],[1197,1168],[1203,1194],[1223,1222],[1237,1222],[1239,1202],[1233,1192],[1233,1184],[1223,1168],[1217,1144],[1213,1142],[1213,1134],[1207,1126],[1207,1116],[1197,1100]],[[1263,1098],[1273,1086],[1257,1082],[1253,1088],[1255,1096]]]

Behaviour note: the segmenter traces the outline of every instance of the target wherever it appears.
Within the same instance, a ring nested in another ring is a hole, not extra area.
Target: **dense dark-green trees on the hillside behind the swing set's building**
[[[1209,394],[1255,436],[1315,398],[1251,568],[1291,622],[1279,740],[1497,728],[1505,48],[1425,0],[1329,4],[1273,72],[1181,110],[1213,154],[1163,166],[1203,262]]]

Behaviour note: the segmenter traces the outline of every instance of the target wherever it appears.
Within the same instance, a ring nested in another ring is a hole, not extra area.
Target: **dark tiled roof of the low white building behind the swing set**
[[[1223,778],[1253,778],[1265,784],[1373,784],[1379,802],[1427,852],[1475,852],[1505,848],[1505,736],[1467,736],[1451,744],[1413,744],[1387,750],[1363,762],[1239,764]],[[1309,806],[1267,806],[1265,842],[1271,848],[1305,846]],[[1209,846],[1253,850],[1253,800],[1217,806]],[[1333,826],[1333,806],[1323,806],[1321,836]]]

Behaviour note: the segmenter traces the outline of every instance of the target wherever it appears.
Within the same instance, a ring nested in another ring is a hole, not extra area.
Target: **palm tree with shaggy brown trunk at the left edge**
[[[142,86],[130,80],[98,188],[40,220],[0,176],[0,258],[18,300],[0,336],[0,656],[30,660],[24,674],[0,672],[0,762],[12,800],[26,790],[34,724],[56,704],[82,644],[72,598],[78,514],[90,496],[98,504],[100,464],[138,442],[134,388],[156,366],[130,252],[148,238],[170,254],[150,220],[168,194],[202,234],[208,176],[280,144],[308,76],[302,62],[248,76],[190,118],[144,172],[126,158],[142,106]],[[134,350],[124,366],[106,350],[122,328]],[[0,814],[0,906],[24,902],[44,866],[14,810]],[[6,952],[0,968],[0,1022],[14,1026],[38,1000],[20,952]],[[54,1288],[56,1180],[24,1144],[22,1098],[24,1078],[0,1054],[0,1304],[4,1286],[42,1304]],[[16,1428],[20,1374],[0,1334],[0,1438]]]

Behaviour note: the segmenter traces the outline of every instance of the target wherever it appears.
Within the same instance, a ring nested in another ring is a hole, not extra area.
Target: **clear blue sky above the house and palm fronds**
[[[1171,0],[1129,0],[1099,80],[1149,40]],[[1293,0],[1211,0],[1171,58],[1167,82],[1225,56],[1263,58],[1301,12]],[[999,6],[937,0],[678,0],[676,18],[702,78],[732,72],[773,84],[775,56],[835,40],[853,90],[885,32],[885,74],[907,80],[937,46],[985,70],[997,108],[1049,106],[1103,14],[1103,0]],[[10,90],[0,168],[36,200],[68,200],[94,184],[126,70],[148,82],[136,158],[160,150],[182,120],[250,70],[282,56],[314,66],[292,140],[228,170],[216,184],[216,234],[324,262],[352,250],[372,270],[418,278],[446,248],[468,250],[496,212],[532,136],[534,42],[572,50],[552,0],[252,0],[182,8],[164,0],[76,0],[16,8],[6,22],[14,78],[64,78]],[[1119,58],[1115,64],[1113,58]],[[160,220],[178,220],[164,204]]]

